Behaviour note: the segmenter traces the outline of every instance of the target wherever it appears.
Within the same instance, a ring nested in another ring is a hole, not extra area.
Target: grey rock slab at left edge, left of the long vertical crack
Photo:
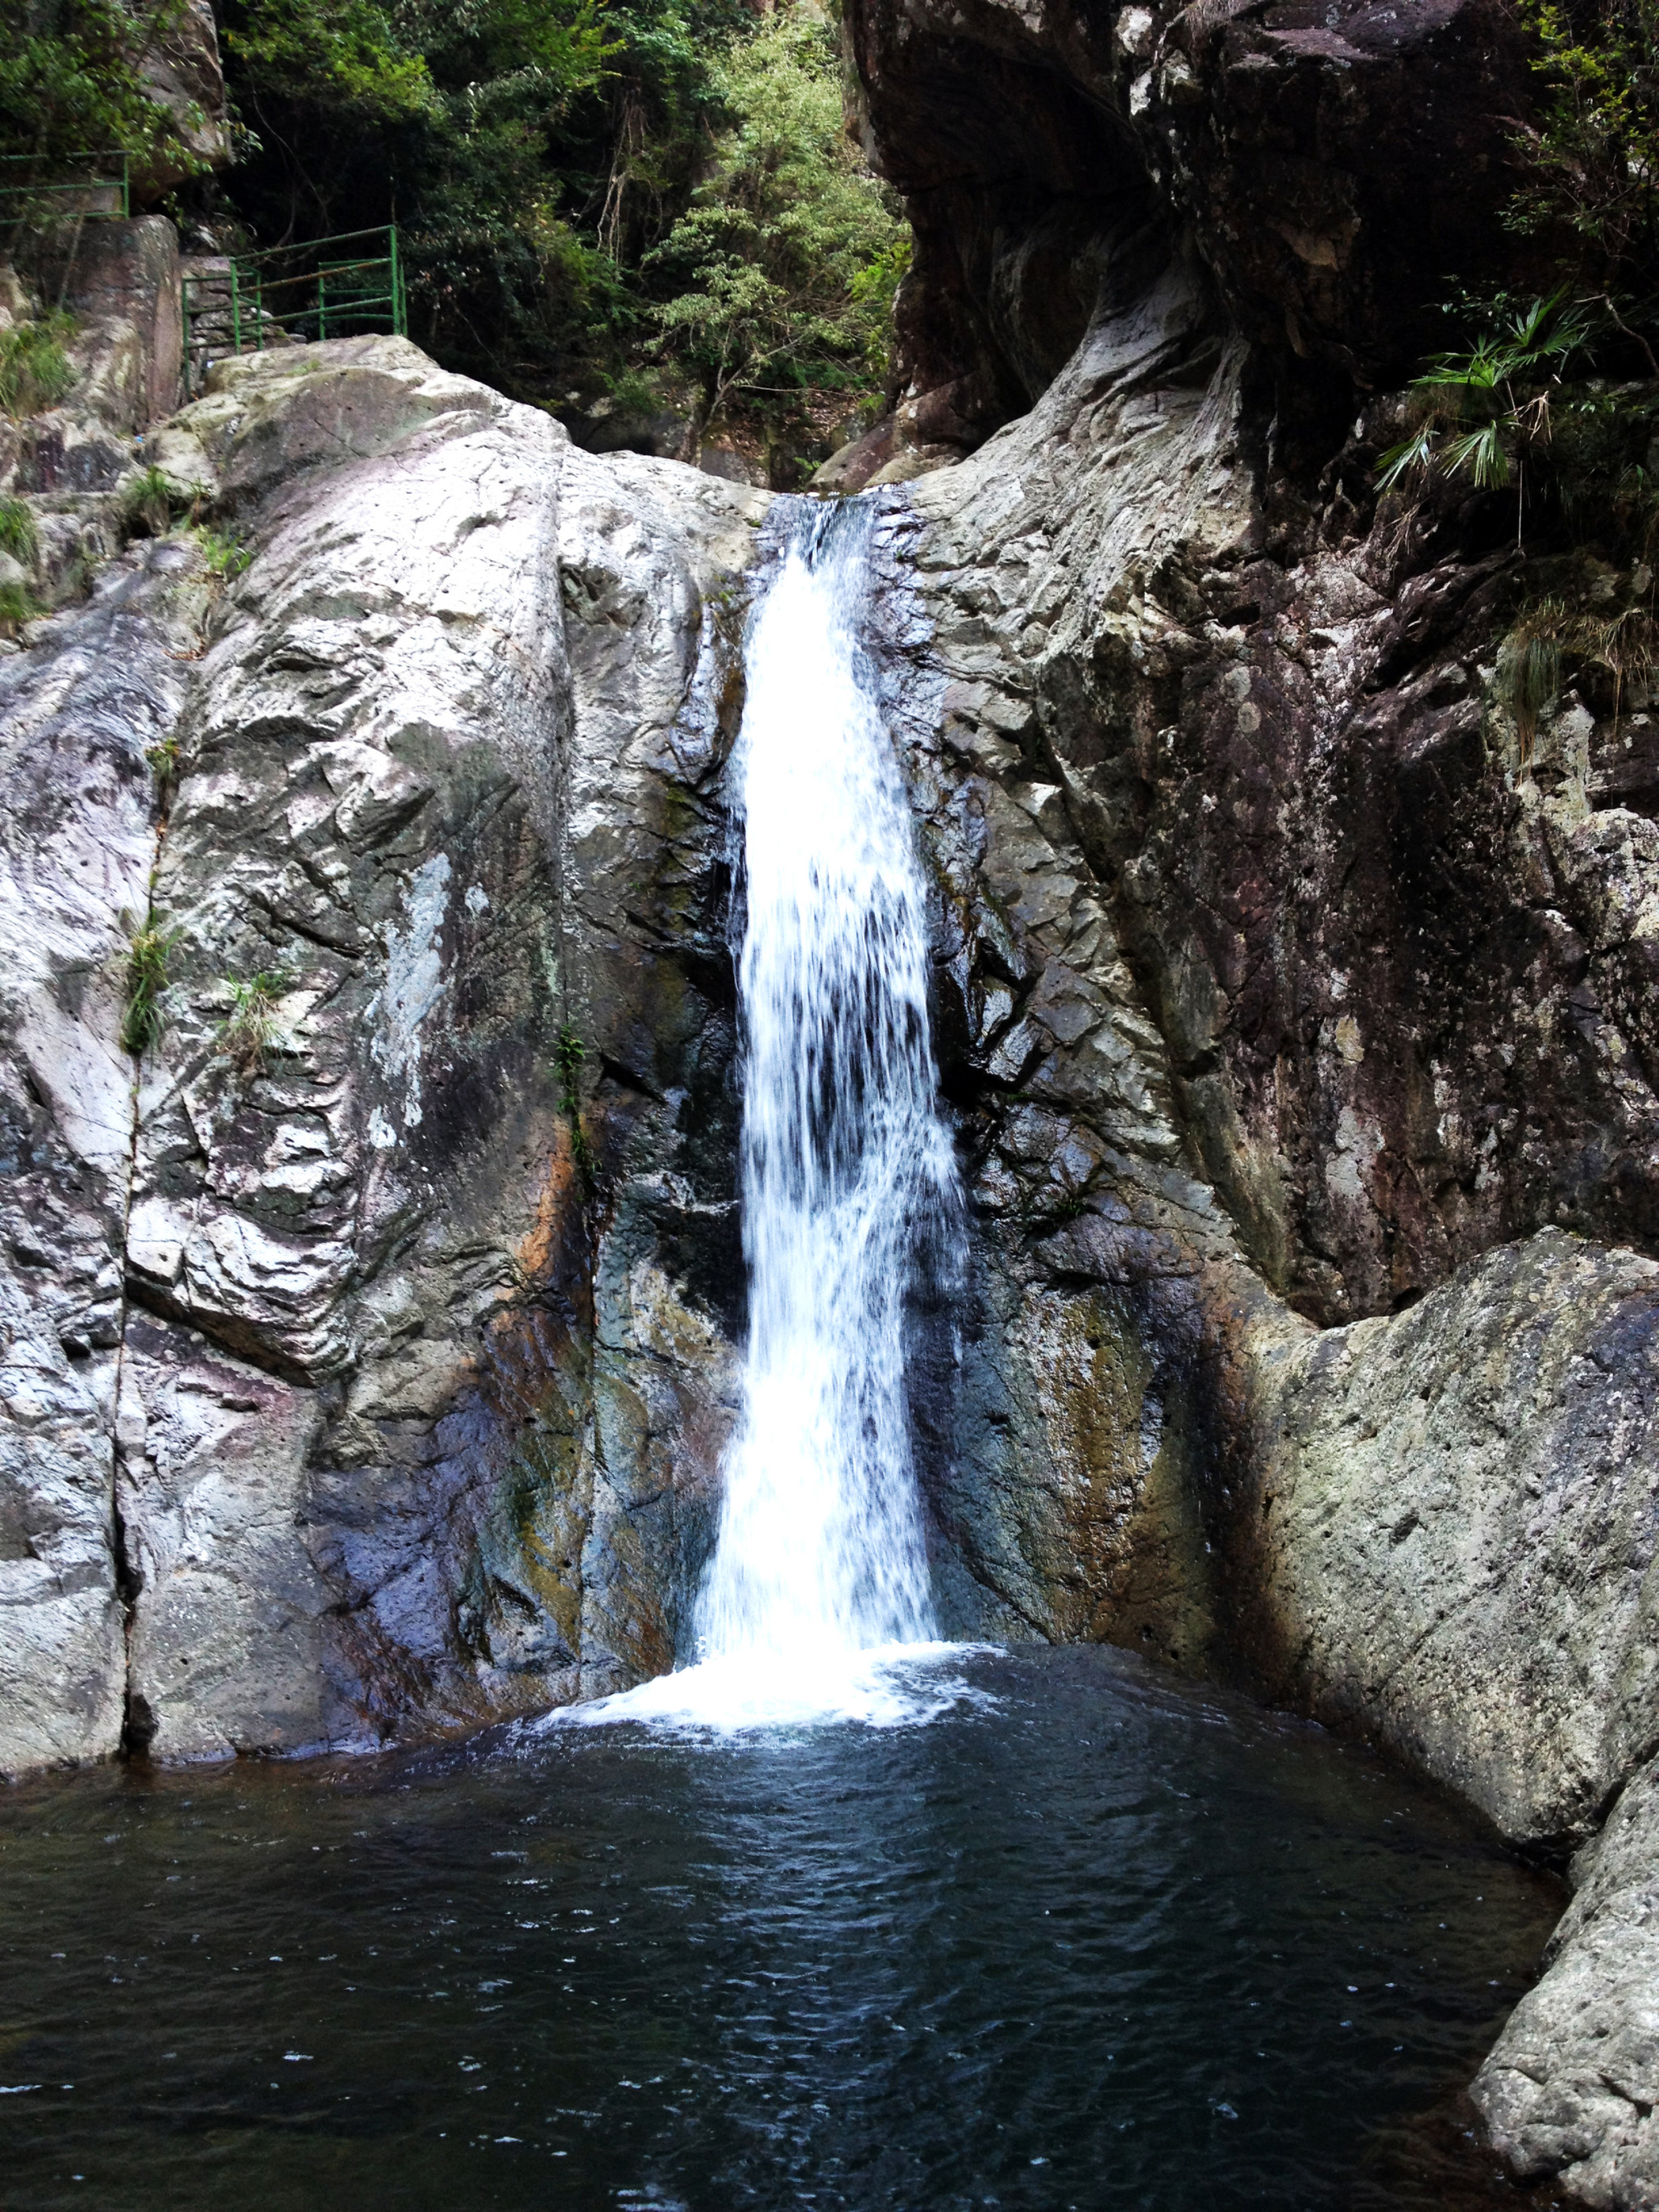
[[[115,1511],[146,748],[184,701],[192,562],[142,549],[0,661],[0,1770],[119,1741]]]

